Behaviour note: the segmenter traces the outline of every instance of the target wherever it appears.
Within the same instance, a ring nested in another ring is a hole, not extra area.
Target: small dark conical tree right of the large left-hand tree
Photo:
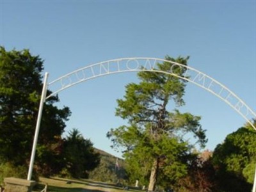
[[[68,132],[64,141],[64,153],[67,170],[74,178],[87,178],[88,171],[100,163],[100,155],[94,151],[93,143],[85,140],[77,129]]]

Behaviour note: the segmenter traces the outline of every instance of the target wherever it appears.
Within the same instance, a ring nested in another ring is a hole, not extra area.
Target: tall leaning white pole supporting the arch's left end
[[[28,179],[27,180],[31,180],[31,177],[32,177],[33,165],[34,165],[35,154],[36,154],[36,144],[37,144],[37,139],[38,139],[38,134],[39,134],[39,129],[40,129],[40,123],[41,123],[41,118],[42,118],[42,111],[43,111],[43,107],[44,107],[44,102],[45,102],[45,96],[46,96],[46,93],[47,93],[48,75],[49,74],[47,72],[44,75],[44,85],[43,85],[43,90],[42,90],[42,95],[41,95],[41,100],[40,100],[40,106],[39,106],[39,111],[38,111],[38,116],[37,116],[37,121],[36,121],[36,130],[35,130],[33,148],[32,148],[31,158],[30,158],[30,163],[29,163]]]

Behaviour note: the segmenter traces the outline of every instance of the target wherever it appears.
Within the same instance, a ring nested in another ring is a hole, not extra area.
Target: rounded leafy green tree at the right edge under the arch
[[[256,125],[256,120],[254,120]],[[256,132],[250,125],[228,134],[214,150],[212,161],[216,167],[220,189],[250,191],[256,165]]]

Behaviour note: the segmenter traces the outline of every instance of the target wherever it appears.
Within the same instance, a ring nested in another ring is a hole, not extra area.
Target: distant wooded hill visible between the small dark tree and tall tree
[[[99,148],[95,148],[95,152],[100,154],[100,164],[95,170],[89,172],[89,179],[113,183],[118,182],[118,180],[122,180],[122,182],[126,180],[124,159],[115,157]]]

